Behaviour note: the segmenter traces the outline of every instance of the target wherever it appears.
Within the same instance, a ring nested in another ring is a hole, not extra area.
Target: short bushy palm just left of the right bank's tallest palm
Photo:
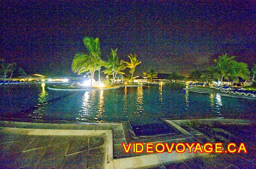
[[[211,85],[212,81],[216,81],[219,78],[218,71],[216,70],[216,67],[210,66],[202,71],[202,75],[200,76],[200,79],[206,81],[206,83],[209,83],[209,86]]]

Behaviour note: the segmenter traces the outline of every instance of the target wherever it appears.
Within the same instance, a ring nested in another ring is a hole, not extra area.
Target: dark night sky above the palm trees
[[[27,73],[72,75],[85,36],[99,37],[102,58],[110,48],[159,73],[186,75],[228,53],[256,63],[256,1],[1,1],[0,57]]]

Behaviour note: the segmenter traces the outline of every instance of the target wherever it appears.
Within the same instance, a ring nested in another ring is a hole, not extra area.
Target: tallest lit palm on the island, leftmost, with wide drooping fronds
[[[75,73],[78,73],[78,75],[83,72],[90,71],[90,86],[92,86],[92,79],[94,78],[96,65],[100,62],[100,40],[97,37],[95,39],[93,37],[84,37],[83,42],[89,54],[76,54],[73,59],[72,70]]]

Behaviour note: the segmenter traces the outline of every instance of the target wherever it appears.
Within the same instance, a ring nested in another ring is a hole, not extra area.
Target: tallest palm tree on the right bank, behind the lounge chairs
[[[228,73],[230,73],[230,71],[232,70],[235,62],[234,58],[234,56],[228,57],[228,55],[225,54],[220,56],[218,60],[214,60],[214,62],[216,63],[216,70],[218,70],[219,73],[221,85],[223,84],[224,77],[227,76]]]

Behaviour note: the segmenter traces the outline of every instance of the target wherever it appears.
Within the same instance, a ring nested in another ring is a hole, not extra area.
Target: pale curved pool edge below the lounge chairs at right
[[[188,90],[189,92],[197,92],[197,93],[215,93],[215,94],[220,94],[221,96],[228,96],[228,97],[236,97],[236,98],[247,98],[247,99],[253,99],[253,100],[256,100],[256,98],[253,98],[253,97],[248,97],[248,96],[234,96],[234,94],[226,94],[226,93],[223,93],[223,92],[218,92],[216,90],[214,90],[213,88],[199,88],[199,87],[191,87],[191,88],[183,88],[184,90]],[[191,90],[192,89],[192,90]],[[201,91],[200,91],[201,89]],[[206,89],[205,91],[203,91],[202,89]],[[208,89],[208,91],[207,91]],[[212,90],[210,90],[212,89]]]

